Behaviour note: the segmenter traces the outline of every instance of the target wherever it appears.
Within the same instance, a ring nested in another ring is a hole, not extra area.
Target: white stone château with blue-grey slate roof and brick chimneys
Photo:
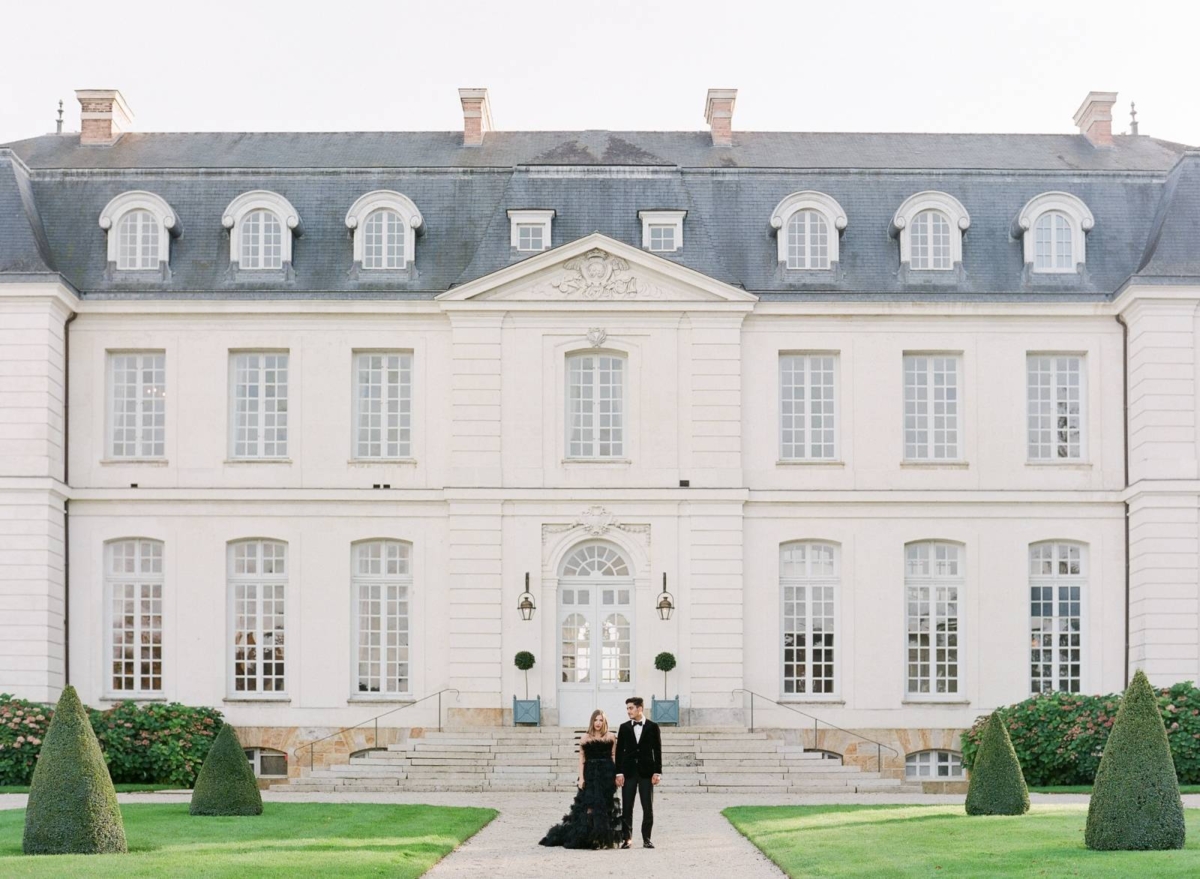
[[[0,148],[0,692],[290,749],[510,723],[521,650],[544,723],[620,716],[670,651],[685,723],[926,753],[1200,676],[1200,153],[1111,92],[1076,134],[734,97],[155,134],[92,90]]]

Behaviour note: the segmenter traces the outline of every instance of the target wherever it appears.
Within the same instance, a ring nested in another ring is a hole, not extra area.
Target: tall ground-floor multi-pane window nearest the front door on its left
[[[412,550],[397,540],[354,548],[359,693],[410,693]]]

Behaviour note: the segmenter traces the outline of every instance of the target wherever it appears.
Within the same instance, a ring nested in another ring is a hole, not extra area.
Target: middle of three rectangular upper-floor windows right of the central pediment
[[[959,358],[955,354],[905,354],[905,459],[959,459],[960,412]]]

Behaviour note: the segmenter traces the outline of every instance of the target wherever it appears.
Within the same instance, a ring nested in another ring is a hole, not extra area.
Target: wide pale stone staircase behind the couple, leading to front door
[[[427,730],[419,737],[349,758],[271,789],[354,791],[570,791],[578,773],[581,731],[541,729]],[[919,784],[842,766],[820,752],[744,729],[662,729],[662,789],[678,793],[920,793]]]

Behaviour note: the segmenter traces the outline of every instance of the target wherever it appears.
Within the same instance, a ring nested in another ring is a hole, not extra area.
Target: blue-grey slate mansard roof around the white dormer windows
[[[170,279],[107,274],[104,205],[130,190],[163,197],[184,234]],[[294,279],[229,270],[226,207],[250,190],[295,205]],[[425,228],[407,280],[353,271],[346,213],[396,190]],[[835,273],[784,271],[770,214],[791,192],[835,198],[848,226]],[[948,192],[971,215],[961,273],[902,273],[893,215],[908,196]],[[1096,225],[1081,275],[1030,275],[1013,235],[1042,192],[1081,198]],[[506,210],[553,208],[552,245],[600,232],[640,246],[637,211],[682,209],[684,247],[664,255],[764,299],[1105,299],[1132,276],[1200,281],[1200,151],[1142,136],[1108,149],[1081,134],[736,132],[126,133],[112,146],[49,134],[0,146],[0,280],[60,274],[83,297],[432,298],[518,261]],[[522,257],[526,255],[521,255]],[[817,276],[820,275],[820,276]]]

